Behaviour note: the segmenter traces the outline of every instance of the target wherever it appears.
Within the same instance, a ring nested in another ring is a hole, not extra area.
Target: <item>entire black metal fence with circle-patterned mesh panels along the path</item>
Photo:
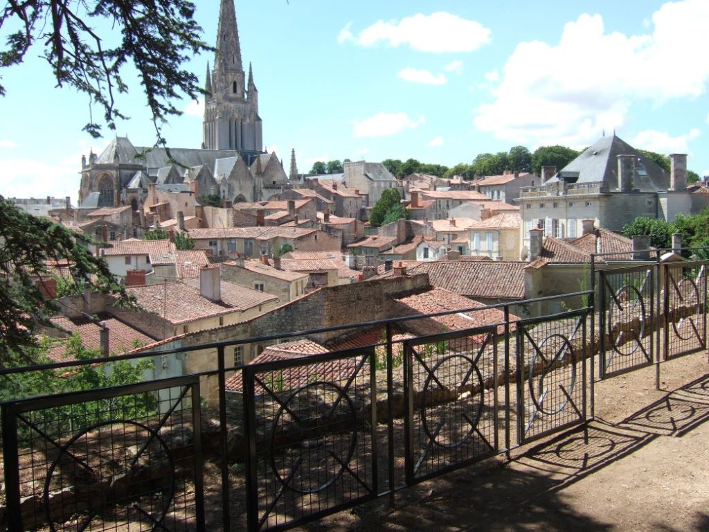
[[[501,304],[467,309],[485,326],[435,335],[395,332],[461,311],[125,355],[217,353],[201,375],[8,401],[0,521],[12,531],[291,528],[588,423],[596,367],[598,378],[659,372],[706,348],[705,262],[592,267],[591,278],[591,290],[528,301],[581,301],[561,314],[520,319]],[[225,363],[234,345],[372,327],[379,340],[355,349]],[[220,380],[211,431],[206,375]],[[227,377],[239,386],[227,391]]]

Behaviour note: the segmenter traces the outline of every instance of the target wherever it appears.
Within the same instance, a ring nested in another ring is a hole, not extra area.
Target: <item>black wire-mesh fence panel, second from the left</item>
[[[250,530],[289,528],[376,497],[374,351],[244,368]]]

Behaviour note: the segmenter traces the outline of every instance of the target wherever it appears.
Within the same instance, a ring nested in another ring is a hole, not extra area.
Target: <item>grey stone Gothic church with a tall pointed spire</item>
[[[224,201],[265,201],[289,187],[283,162],[263,150],[258,91],[241,58],[233,0],[221,0],[214,67],[207,65],[201,148],[134,146],[114,138],[100,155],[82,157],[79,208],[143,203],[147,189],[199,189]],[[196,184],[196,187],[195,187]]]

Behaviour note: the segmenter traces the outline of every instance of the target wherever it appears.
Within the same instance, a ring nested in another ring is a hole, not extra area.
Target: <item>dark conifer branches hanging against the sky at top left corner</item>
[[[44,57],[58,87],[89,96],[91,118],[84,131],[94,137],[101,135],[101,124],[91,106],[101,109],[97,115],[111,130],[118,118],[126,118],[117,106],[118,96],[128,93],[125,74],[132,78],[137,72],[143,85],[156,145],[164,145],[167,118],[182,113],[174,99],[203,94],[199,79],[184,68],[211,50],[201,40],[189,0],[10,0],[0,11],[0,28],[7,28],[0,68],[20,64],[30,50]]]

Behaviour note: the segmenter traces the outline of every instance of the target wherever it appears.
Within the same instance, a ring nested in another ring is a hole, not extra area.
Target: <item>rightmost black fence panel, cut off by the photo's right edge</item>
[[[706,347],[707,262],[667,262],[663,268],[664,360]]]

